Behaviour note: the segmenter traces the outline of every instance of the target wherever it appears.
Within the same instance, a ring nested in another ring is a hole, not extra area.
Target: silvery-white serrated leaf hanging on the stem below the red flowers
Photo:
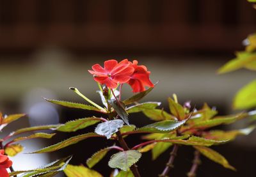
[[[119,128],[123,127],[124,121],[121,119],[115,119],[111,121],[105,121],[99,123],[95,128],[95,133],[104,135],[107,139],[111,138],[111,135],[115,134]]]

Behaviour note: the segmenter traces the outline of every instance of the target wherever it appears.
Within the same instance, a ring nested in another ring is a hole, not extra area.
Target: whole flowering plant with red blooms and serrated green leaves
[[[84,96],[77,88],[70,89],[84,98],[90,105],[48,98],[45,98],[45,100],[65,107],[99,112],[102,114],[102,117],[93,116],[90,118],[74,119],[60,125],[24,128],[10,134],[8,138],[22,132],[30,132],[31,130],[54,129],[57,132],[76,132],[77,130],[97,125],[94,132],[76,135],[31,153],[57,151],[90,137],[107,139],[113,142],[113,146],[102,147],[101,150],[97,148],[98,151],[86,161],[86,165],[68,164],[71,157],[67,157],[45,165],[42,168],[30,171],[15,171],[10,173],[10,176],[17,174],[22,174],[23,176],[54,176],[62,170],[67,176],[102,176],[100,172],[93,170],[92,167],[111,150],[115,150],[118,152],[114,153],[108,162],[109,167],[115,169],[110,176],[138,177],[143,176],[143,174],[140,174],[140,168],[136,165],[136,162],[140,160],[143,153],[151,151],[152,159],[155,160],[164,151],[172,148],[168,162],[163,162],[163,171],[159,172],[159,176],[168,176],[170,169],[173,167],[175,157],[179,153],[179,146],[192,146],[195,149],[195,157],[193,164],[191,164],[191,169],[188,171],[188,176],[195,176],[200,164],[200,155],[204,155],[210,160],[223,165],[223,167],[236,170],[228,163],[225,157],[209,148],[209,146],[225,144],[234,140],[237,135],[250,134],[254,127],[229,131],[213,129],[218,125],[228,125],[240,119],[248,118],[250,117],[248,113],[241,112],[228,116],[216,116],[218,114],[216,109],[209,107],[207,104],[204,104],[199,110],[196,108],[191,109],[190,102],[186,102],[183,105],[179,104],[175,94],[173,94],[172,98],[168,98],[170,111],[159,108],[160,102],[140,102],[143,97],[147,96],[154,89],[154,84],[149,79],[150,72],[147,70],[147,67],[138,65],[136,60],[130,62],[124,59],[118,63],[115,59],[110,59],[104,62],[104,67],[96,64],[88,72],[93,75],[93,79],[99,86],[99,91],[97,92],[102,100],[102,105],[98,105]],[[131,96],[131,98],[122,99],[123,84],[129,84],[132,91],[136,94]],[[148,88],[146,89],[145,87]],[[142,112],[154,123],[143,127],[132,125],[129,118],[132,113],[136,112]],[[134,134],[143,134],[143,136],[140,143],[131,147],[125,139],[127,136]],[[21,137],[21,139],[18,138],[18,140],[33,137],[52,137],[52,135],[54,134],[46,135],[39,133],[29,137]],[[6,138],[3,139],[3,141],[5,140]],[[2,148],[6,151],[7,155],[11,155],[8,153],[8,147],[16,141],[17,139],[13,139]],[[116,142],[119,145],[116,145]]]

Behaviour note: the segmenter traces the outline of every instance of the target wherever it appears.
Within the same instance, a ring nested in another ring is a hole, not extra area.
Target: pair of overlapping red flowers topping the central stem
[[[129,84],[133,92],[145,91],[145,86],[154,87],[149,79],[150,72],[147,67],[138,65],[136,60],[131,63],[128,59],[124,59],[118,63],[115,59],[109,59],[104,62],[104,68],[95,64],[92,69],[88,72],[93,74],[94,80],[111,89],[116,88],[118,83]]]

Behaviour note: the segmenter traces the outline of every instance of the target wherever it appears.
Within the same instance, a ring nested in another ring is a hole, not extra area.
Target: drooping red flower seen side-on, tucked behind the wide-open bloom
[[[145,86],[154,88],[154,84],[149,79],[150,72],[148,72],[147,67],[143,65],[138,65],[138,61],[132,61],[132,67],[134,68],[134,73],[132,73],[128,84],[132,87],[133,92],[145,91]]]

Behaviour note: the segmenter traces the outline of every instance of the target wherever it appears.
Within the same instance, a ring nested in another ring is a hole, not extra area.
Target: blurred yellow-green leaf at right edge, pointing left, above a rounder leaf
[[[239,68],[247,68],[251,63],[256,61],[256,54],[252,52],[237,52],[237,58],[228,61],[224,66],[222,66],[218,73],[227,73],[232,72],[234,70],[238,70]]]

